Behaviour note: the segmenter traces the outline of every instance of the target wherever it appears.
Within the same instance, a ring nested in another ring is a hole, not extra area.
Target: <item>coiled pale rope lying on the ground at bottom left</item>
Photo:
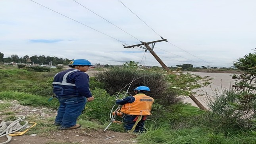
[[[2,142],[0,144],[7,144],[8,142],[10,142],[12,140],[12,136],[9,136],[8,134],[17,132],[27,126],[28,122],[23,121],[23,119],[25,119],[25,116],[18,115],[15,117],[18,118],[15,121],[6,121],[6,122],[4,120],[1,121],[1,123],[0,123],[0,138],[3,136],[6,136],[8,138],[8,140],[6,142]],[[21,125],[20,124],[21,121],[25,122],[25,124]]]

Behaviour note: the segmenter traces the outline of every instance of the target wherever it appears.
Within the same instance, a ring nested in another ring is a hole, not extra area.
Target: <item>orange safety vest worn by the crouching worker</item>
[[[145,94],[136,94],[133,97],[135,101],[124,104],[120,111],[128,115],[150,115],[154,99]]]

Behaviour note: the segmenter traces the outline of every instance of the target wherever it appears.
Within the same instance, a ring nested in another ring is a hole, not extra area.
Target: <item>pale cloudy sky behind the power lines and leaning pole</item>
[[[255,0],[0,0],[4,58],[56,56],[92,64],[135,61],[232,67],[256,48]],[[152,45],[150,44],[150,47]]]

